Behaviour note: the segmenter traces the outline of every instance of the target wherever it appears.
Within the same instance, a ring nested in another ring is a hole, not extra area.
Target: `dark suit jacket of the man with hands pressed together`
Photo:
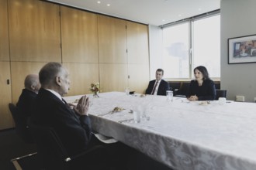
[[[31,121],[54,128],[69,154],[81,152],[91,138],[91,121],[78,115],[48,90],[41,88],[33,105]]]

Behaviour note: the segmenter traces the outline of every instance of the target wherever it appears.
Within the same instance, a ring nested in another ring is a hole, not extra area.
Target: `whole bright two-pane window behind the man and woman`
[[[195,66],[220,79],[220,15],[164,27],[162,63],[165,79],[192,79]]]

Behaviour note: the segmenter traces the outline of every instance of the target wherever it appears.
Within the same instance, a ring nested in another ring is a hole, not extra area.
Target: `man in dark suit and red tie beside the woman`
[[[151,95],[166,95],[166,90],[169,90],[169,83],[165,80],[162,80],[162,77],[164,76],[164,70],[157,69],[156,71],[156,80],[151,80],[148,83],[148,87],[146,90],[146,94]]]

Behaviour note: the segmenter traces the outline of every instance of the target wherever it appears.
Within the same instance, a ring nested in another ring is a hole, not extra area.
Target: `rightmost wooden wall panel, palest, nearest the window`
[[[129,87],[136,93],[144,93],[150,80],[148,29],[135,22],[126,25]]]

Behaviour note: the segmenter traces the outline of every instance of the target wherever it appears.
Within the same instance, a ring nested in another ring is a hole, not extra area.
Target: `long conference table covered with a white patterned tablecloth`
[[[82,95],[64,97],[74,103]],[[174,169],[256,169],[256,104],[99,93],[90,97],[92,128]],[[113,111],[115,107],[122,108]],[[146,114],[140,123],[135,111]]]

